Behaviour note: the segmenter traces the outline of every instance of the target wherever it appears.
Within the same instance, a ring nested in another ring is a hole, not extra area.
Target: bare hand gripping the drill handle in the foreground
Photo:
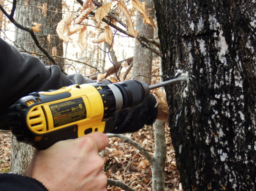
[[[106,191],[104,160],[98,154],[109,143],[104,133],[90,133],[36,150],[24,176],[37,179],[49,191]]]

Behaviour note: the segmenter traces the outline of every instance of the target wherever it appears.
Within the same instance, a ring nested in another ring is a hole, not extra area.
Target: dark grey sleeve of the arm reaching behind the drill
[[[36,91],[57,90],[63,86],[93,82],[81,74],[66,76],[61,73],[59,66],[45,66],[39,58],[20,53],[3,39],[0,39],[0,55],[0,129],[9,129],[9,108],[21,97]],[[106,122],[106,133],[134,132],[145,123],[151,125],[157,108],[154,108],[154,98],[149,97],[146,100],[151,101],[143,102],[143,106],[116,113]]]

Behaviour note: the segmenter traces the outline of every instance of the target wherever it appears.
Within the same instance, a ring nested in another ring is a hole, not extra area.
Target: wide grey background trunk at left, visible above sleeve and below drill
[[[57,36],[56,28],[53,26],[54,23],[58,23],[62,17],[61,9],[62,4],[61,0],[51,1],[45,0],[41,1],[41,3],[47,3],[48,10],[47,16],[43,16],[41,9],[37,8],[37,4],[35,1],[29,1],[31,6],[24,6],[24,1],[18,1],[18,3],[23,5],[18,5],[16,7],[15,18],[18,23],[23,26],[33,27],[33,23],[41,23],[42,27],[40,27],[40,32],[35,32],[37,34],[37,39],[42,47],[44,47],[50,54],[52,53],[52,47],[57,47],[57,55],[63,56],[63,46],[62,40]],[[33,6],[33,7],[32,7]],[[42,4],[40,4],[42,6]],[[28,8],[28,9],[27,9]],[[58,8],[57,15],[55,15],[55,10]],[[51,12],[52,11],[52,12]],[[33,39],[29,36],[29,34],[25,35],[26,32],[16,28],[16,45],[20,47],[21,51],[34,51],[39,52],[37,46],[33,42]],[[47,35],[51,35],[51,43],[47,40]],[[22,47],[22,48],[21,48]],[[51,63],[42,59],[42,61],[46,65],[51,65]],[[57,60],[57,62],[62,62],[61,60]],[[12,158],[11,158],[11,172],[17,174],[23,174],[25,168],[30,163],[33,157],[34,148],[31,145],[22,144],[16,141],[16,139],[12,139]]]

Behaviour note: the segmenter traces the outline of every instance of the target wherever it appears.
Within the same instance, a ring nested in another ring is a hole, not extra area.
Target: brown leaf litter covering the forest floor
[[[145,126],[136,133],[126,136],[142,145],[153,155],[154,133],[152,126]],[[9,172],[11,164],[11,133],[0,133],[0,172]],[[175,152],[170,133],[166,127],[167,159],[165,163],[165,191],[181,191],[179,172],[175,165]],[[105,149],[105,172],[108,178],[125,182],[138,191],[151,191],[151,168],[149,162],[137,148],[120,138],[110,138]],[[122,191],[121,188],[107,186],[108,191]]]

